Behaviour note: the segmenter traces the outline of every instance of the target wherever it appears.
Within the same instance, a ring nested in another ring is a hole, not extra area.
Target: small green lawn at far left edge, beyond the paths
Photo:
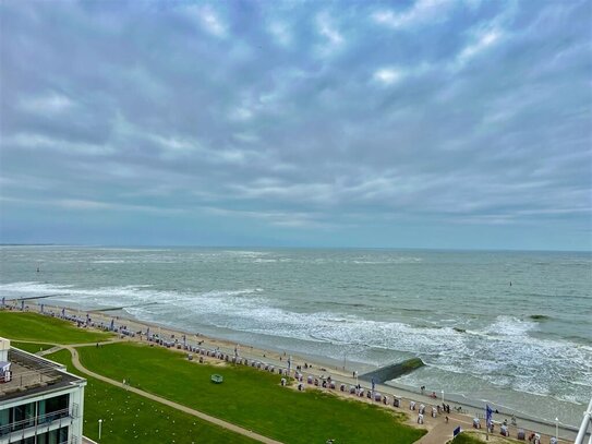
[[[82,344],[108,340],[109,333],[77,328],[72,323],[37,313],[0,311],[0,336],[11,340]]]

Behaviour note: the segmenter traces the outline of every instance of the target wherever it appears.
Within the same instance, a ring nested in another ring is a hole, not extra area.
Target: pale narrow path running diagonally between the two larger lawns
[[[114,385],[114,386],[121,388],[121,382],[113,381],[113,380],[111,380],[109,377],[102,376],[102,375],[100,375],[98,373],[95,373],[95,372],[92,372],[90,370],[87,370],[81,363],[80,357],[78,357],[78,351],[73,346],[63,346],[63,347],[67,348],[68,350],[70,350],[70,352],[72,353],[72,363],[74,364],[74,367],[78,371],[81,371],[82,373],[85,373],[85,374],[87,374],[89,376],[93,376],[93,377],[95,377],[97,380],[100,380],[102,382],[106,382],[108,384],[111,384],[111,385]],[[212,417],[209,415],[206,415],[206,413],[204,413],[202,411],[198,411],[198,410],[194,410],[194,409],[189,408],[186,406],[183,406],[181,404],[173,403],[173,401],[171,401],[169,399],[161,398],[160,396],[153,395],[152,393],[141,391],[140,388],[126,386],[125,389],[128,389],[130,392],[133,392],[136,395],[144,396],[145,398],[148,398],[148,399],[155,400],[157,403],[164,404],[166,406],[172,407],[172,408],[174,408],[177,410],[181,410],[181,411],[183,411],[185,413],[193,415],[194,417],[203,419],[204,421],[210,422],[213,424],[219,425],[219,427],[221,427],[223,429],[230,430],[230,431],[232,431],[234,433],[239,433],[239,434],[249,436],[252,440],[259,441],[262,443],[267,443],[267,444],[281,444],[281,442],[279,442],[279,441],[273,440],[273,439],[267,437],[267,436],[259,435],[258,433],[255,433],[255,432],[252,432],[250,430],[243,429],[242,427],[239,427],[239,425],[232,424],[230,422],[223,421],[221,419]]]

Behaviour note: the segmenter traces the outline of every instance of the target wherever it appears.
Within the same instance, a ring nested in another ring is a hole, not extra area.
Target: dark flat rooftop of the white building
[[[0,401],[63,388],[85,381],[68,373],[61,364],[16,348],[10,348],[8,361],[11,363],[12,375],[9,382],[0,382]]]

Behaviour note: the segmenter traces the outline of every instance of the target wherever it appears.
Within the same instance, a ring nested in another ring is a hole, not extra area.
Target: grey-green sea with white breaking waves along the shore
[[[588,252],[2,247],[0,266],[7,299],[125,307],[360,371],[419,356],[392,384],[475,406],[576,425],[592,396]]]

